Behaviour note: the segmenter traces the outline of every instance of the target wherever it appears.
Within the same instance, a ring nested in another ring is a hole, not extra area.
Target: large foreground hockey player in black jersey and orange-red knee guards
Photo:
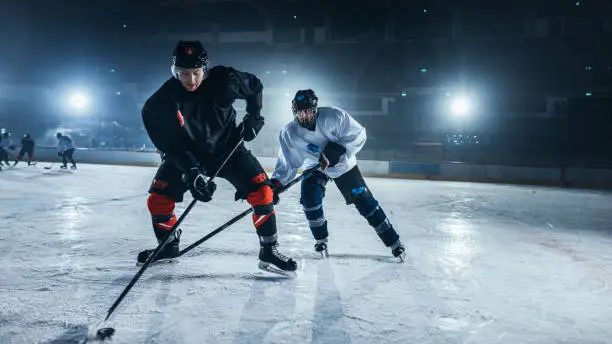
[[[177,221],[175,202],[181,202],[187,190],[201,202],[211,201],[216,185],[205,177],[215,173],[241,139],[253,140],[264,125],[261,81],[230,67],[209,69],[200,42],[178,42],[171,70],[173,76],[142,110],[149,137],[163,157],[147,200],[158,242],[168,237]],[[236,99],[247,104],[239,125],[232,105]],[[236,200],[246,199],[253,207],[260,268],[295,271],[297,263],[278,251],[273,192],[257,159],[240,144],[218,176],[236,188]],[[178,255],[180,231],[176,233],[157,258]],[[140,252],[138,261],[144,262],[152,251]]]

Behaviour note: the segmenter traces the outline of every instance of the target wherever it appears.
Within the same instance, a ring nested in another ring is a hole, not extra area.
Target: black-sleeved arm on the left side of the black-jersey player
[[[155,147],[186,172],[199,163],[188,149],[186,133],[175,112],[171,102],[149,99],[142,108],[142,120]]]

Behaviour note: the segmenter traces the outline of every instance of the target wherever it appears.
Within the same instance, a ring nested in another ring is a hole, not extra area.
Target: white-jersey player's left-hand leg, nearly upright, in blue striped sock
[[[323,198],[328,177],[315,171],[309,177],[302,179],[300,204],[308,220],[312,236],[316,240],[315,251],[327,254],[327,219],[323,212]]]

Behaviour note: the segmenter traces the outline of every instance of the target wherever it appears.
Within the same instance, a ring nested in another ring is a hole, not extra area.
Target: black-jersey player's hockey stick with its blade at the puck
[[[221,166],[219,166],[219,168],[217,169],[217,171],[215,172],[215,174],[213,174],[213,176],[208,180],[208,182],[212,181],[213,179],[215,179],[217,177],[217,175],[219,174],[219,172],[221,172],[221,170],[223,169],[223,167],[225,167],[225,165],[227,164],[227,162],[229,161],[229,159],[232,157],[232,155],[234,155],[234,152],[236,152],[236,149],[238,149],[238,147],[240,147],[240,145],[244,142],[244,139],[241,139],[236,146],[232,149],[232,151],[227,155],[227,157],[225,158],[225,160],[223,160],[223,162],[221,163]],[[164,247],[166,247],[166,245],[168,244],[168,242],[170,242],[170,239],[174,236],[174,234],[177,231],[177,228],[179,227],[179,225],[183,222],[183,220],[185,219],[185,217],[187,217],[187,214],[189,214],[189,212],[191,211],[191,209],[196,205],[196,203],[198,202],[198,200],[194,199],[193,201],[191,201],[191,203],[189,203],[189,205],[187,206],[187,208],[185,209],[185,211],[183,211],[183,214],[181,214],[181,216],[178,218],[178,220],[176,221],[176,223],[174,224],[174,226],[172,226],[172,229],[170,230],[170,234],[166,237],[166,239],[161,242],[157,248],[155,249],[155,251],[153,251],[153,253],[147,258],[147,260],[143,263],[142,267],[140,268],[140,270],[138,270],[138,272],[136,273],[136,275],[134,275],[134,277],[132,277],[132,280],[130,281],[130,283],[128,283],[128,285],[125,287],[125,289],[121,292],[121,294],[119,295],[119,297],[117,298],[117,300],[115,301],[115,303],[113,303],[113,305],[108,309],[108,313],[106,314],[106,317],[104,318],[104,321],[107,321],[108,318],[110,318],[111,314],[113,314],[113,312],[115,311],[115,309],[117,309],[117,307],[119,306],[119,304],[121,303],[121,301],[123,301],[123,299],[125,298],[125,296],[127,295],[127,293],[132,289],[132,287],[134,286],[134,284],[136,284],[136,282],[138,281],[138,279],[140,278],[140,276],[142,276],[142,274],[144,273],[144,271],[147,269],[147,267],[149,266],[149,264],[151,264],[151,262],[157,257],[157,255],[159,254],[159,252],[161,252],[161,250],[164,249]],[[105,339],[108,338],[110,336],[113,335],[113,333],[115,332],[115,330],[111,327],[106,327],[106,328],[101,328],[96,332],[96,338],[97,339]]]

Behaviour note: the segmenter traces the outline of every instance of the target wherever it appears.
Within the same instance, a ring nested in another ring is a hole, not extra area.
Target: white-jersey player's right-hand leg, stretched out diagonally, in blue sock
[[[355,205],[359,214],[365,217],[370,226],[374,228],[385,246],[391,248],[393,256],[402,256],[404,246],[399,235],[366,185],[359,168],[355,166],[350,171],[335,178],[334,182],[344,196],[346,203]]]

